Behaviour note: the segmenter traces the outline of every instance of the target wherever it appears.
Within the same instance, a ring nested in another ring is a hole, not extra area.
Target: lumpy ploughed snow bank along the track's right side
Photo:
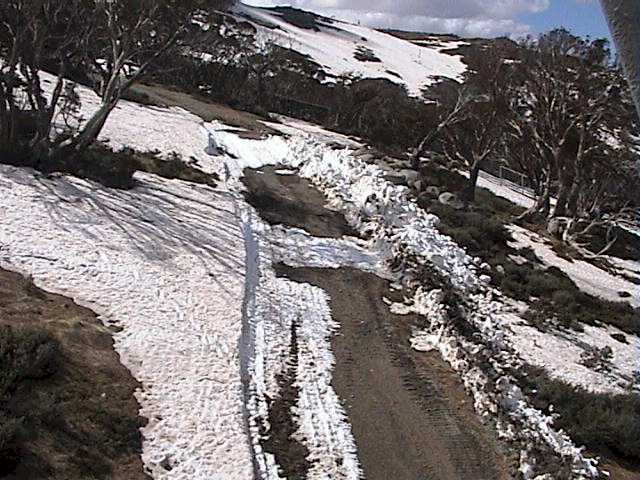
[[[294,138],[288,143],[289,151],[278,151],[272,160],[299,168],[300,174],[318,185],[330,203],[340,208],[361,233],[368,235],[386,258],[397,260],[396,272],[415,291],[404,308],[413,309],[431,321],[427,331],[416,332],[415,348],[437,348],[460,373],[478,412],[490,419],[498,418],[503,438],[520,445],[523,477],[534,478],[534,452],[543,451],[553,452],[563,463],[571,465],[573,478],[597,478],[597,462],[585,458],[566,434],[555,430],[551,417],[528,405],[508,373],[510,368],[522,369],[523,360],[504,332],[507,325],[500,314],[505,304],[498,292],[486,288],[488,278],[477,272],[480,260],[470,258],[453,240],[442,235],[437,228],[438,219],[419,209],[404,187],[385,181],[378,167],[358,161],[348,150],[331,150],[313,145],[308,139]],[[461,295],[466,321],[479,332],[474,341],[458,334],[448,322],[438,290],[422,290],[415,273],[423,263],[433,266]],[[485,373],[482,362],[487,362],[489,370],[495,372],[492,377]]]

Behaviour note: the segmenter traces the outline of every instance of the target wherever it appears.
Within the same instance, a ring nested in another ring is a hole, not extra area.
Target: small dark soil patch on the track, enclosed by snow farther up
[[[242,182],[247,202],[272,225],[301,228],[316,237],[358,236],[339,212],[326,208],[327,200],[298,175],[279,175],[277,167],[245,169]]]

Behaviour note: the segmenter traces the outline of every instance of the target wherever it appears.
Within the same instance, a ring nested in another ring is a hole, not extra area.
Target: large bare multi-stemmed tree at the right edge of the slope
[[[550,230],[576,248],[603,231],[612,245],[613,226],[633,211],[632,190],[620,185],[637,185],[628,135],[633,106],[623,77],[612,67],[605,41],[566,30],[527,42],[522,53],[506,157],[531,172],[537,200],[521,219],[555,217]]]

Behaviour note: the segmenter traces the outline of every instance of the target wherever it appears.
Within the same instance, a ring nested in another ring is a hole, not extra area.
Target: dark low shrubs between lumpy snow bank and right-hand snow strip
[[[438,167],[425,169],[427,185],[457,191],[466,179]],[[580,330],[582,325],[614,325],[640,334],[640,315],[626,302],[610,302],[582,292],[560,269],[544,267],[530,249],[513,249],[505,225],[522,211],[508,200],[480,189],[477,202],[454,209],[422,197],[421,205],[440,218],[443,233],[469,255],[490,265],[492,283],[505,295],[529,304],[525,318],[544,330],[557,325]],[[522,261],[516,261],[520,258]]]

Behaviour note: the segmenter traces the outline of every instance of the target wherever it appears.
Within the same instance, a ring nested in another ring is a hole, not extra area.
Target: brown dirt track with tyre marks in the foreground
[[[351,268],[278,266],[331,298],[340,332],[333,387],[343,401],[368,480],[509,478],[494,434],[478,419],[457,374],[437,353],[411,349],[411,327],[382,298],[389,282]],[[396,300],[400,300],[396,298]]]

